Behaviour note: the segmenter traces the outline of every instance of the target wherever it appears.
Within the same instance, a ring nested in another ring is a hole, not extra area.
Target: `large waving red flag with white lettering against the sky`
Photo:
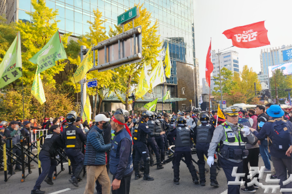
[[[239,48],[257,48],[270,44],[265,21],[225,30],[223,34],[232,40],[233,46]]]

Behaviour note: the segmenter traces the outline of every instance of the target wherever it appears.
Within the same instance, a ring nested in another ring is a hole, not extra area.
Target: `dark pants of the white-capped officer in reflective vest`
[[[236,173],[242,173],[243,172],[243,162],[242,161],[239,163],[231,162],[229,160],[222,158],[221,156],[219,156],[219,158],[220,158],[220,164],[221,164],[221,166],[224,170],[225,176],[227,178],[227,183],[228,183],[228,181],[235,181],[235,177],[232,177],[233,167],[238,167],[238,170]],[[227,194],[240,194],[240,184],[239,185],[228,185]]]

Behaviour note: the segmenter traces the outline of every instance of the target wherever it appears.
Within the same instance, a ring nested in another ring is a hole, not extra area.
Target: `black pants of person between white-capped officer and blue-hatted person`
[[[254,189],[254,186],[247,186],[247,183],[249,183],[251,180],[247,178],[247,176],[249,175],[249,167],[248,167],[248,163],[250,166],[255,166],[258,167],[259,166],[259,153],[260,153],[260,148],[252,148],[252,149],[248,149],[248,156],[246,159],[243,160],[243,172],[245,173],[245,177],[242,178],[243,181],[245,181],[244,186],[246,188],[249,189]],[[259,177],[259,174],[255,174],[254,177]],[[253,177],[253,178],[254,178]],[[258,179],[258,181],[260,181]]]

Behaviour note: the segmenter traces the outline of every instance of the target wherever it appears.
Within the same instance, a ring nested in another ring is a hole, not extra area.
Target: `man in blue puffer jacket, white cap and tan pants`
[[[106,128],[109,122],[104,114],[98,114],[95,117],[96,125],[92,127],[87,134],[86,152],[84,165],[86,165],[87,183],[84,194],[93,194],[96,180],[102,185],[102,193],[111,192],[111,180],[109,180],[106,170],[105,151],[111,149],[111,144],[104,144],[103,128]]]

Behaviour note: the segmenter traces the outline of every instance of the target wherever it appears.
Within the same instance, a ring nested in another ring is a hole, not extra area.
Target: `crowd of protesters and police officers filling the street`
[[[86,166],[84,194],[94,193],[95,189],[98,194],[110,193],[111,190],[113,193],[129,193],[133,173],[135,180],[153,181],[150,167],[155,165],[156,169],[163,169],[166,156],[172,154],[173,182],[176,185],[179,184],[179,166],[183,161],[191,173],[192,182],[205,186],[207,163],[211,186],[219,186],[216,179],[218,168],[223,168],[227,181],[235,181],[232,171],[237,167],[237,173],[245,173],[245,185],[240,188],[240,184],[228,184],[228,193],[240,193],[240,190],[256,192],[260,172],[255,173],[251,180],[249,166],[259,167],[261,156],[265,165],[263,172],[271,173],[270,179],[279,178],[280,188],[292,188],[291,182],[283,184],[287,173],[291,174],[292,112],[285,112],[279,105],[267,104],[247,111],[229,108],[223,113],[225,118],[219,117],[217,111],[210,114],[206,111],[180,111],[177,114],[143,111],[130,116],[127,110],[117,109],[113,114],[100,112],[94,122],[83,122],[75,111],[70,111],[66,118],[44,118],[42,124],[36,119],[2,121],[0,137],[2,141],[12,137],[13,146],[21,139],[33,138],[31,134],[38,129],[48,129],[39,153],[42,173],[31,190],[32,194],[45,193],[40,190],[43,181],[53,185],[52,173],[57,165],[53,158],[59,148],[64,149],[71,162],[69,182],[74,186],[79,186],[80,173]],[[6,142],[8,147],[9,143]],[[82,152],[84,145],[85,154]],[[192,158],[194,148],[197,162]],[[20,156],[19,151],[12,150],[16,156]],[[193,162],[197,163],[198,170]],[[22,168],[16,163],[14,171],[19,170]],[[112,181],[109,172],[113,174]]]

